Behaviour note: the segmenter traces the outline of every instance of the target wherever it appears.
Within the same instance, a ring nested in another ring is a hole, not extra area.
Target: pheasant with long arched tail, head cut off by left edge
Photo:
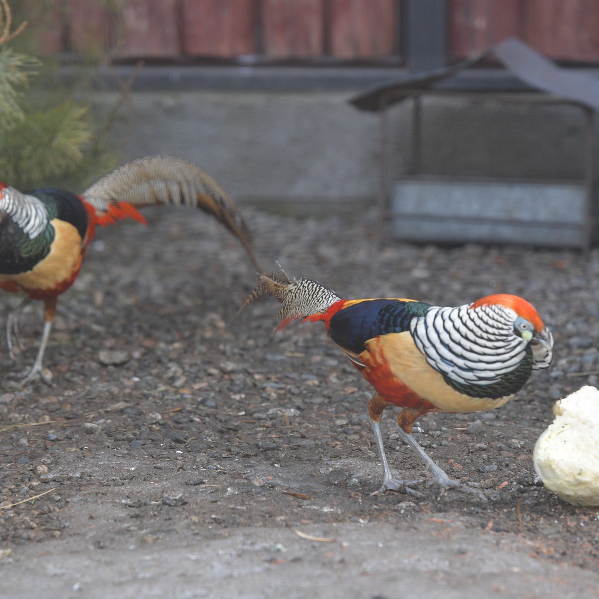
[[[0,183],[0,288],[26,296],[7,319],[8,351],[20,344],[18,317],[32,299],[44,302],[44,329],[35,364],[23,382],[40,376],[56,314],[56,302],[79,274],[96,226],[131,218],[146,224],[138,208],[187,205],[212,214],[246,249],[258,271],[252,240],[234,202],[214,179],[191,162],[146,156],[101,177],[81,195],[62,189],[22,193]]]

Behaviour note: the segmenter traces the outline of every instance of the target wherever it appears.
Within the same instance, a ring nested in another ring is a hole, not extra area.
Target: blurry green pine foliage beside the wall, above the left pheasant
[[[41,18],[47,3],[34,5],[31,16]],[[0,7],[0,29],[6,34],[10,9],[6,0],[0,0]],[[114,158],[98,141],[105,132],[91,108],[72,99],[76,90],[59,83],[56,67],[13,49],[17,41],[19,48],[34,48],[34,29],[30,23],[12,38],[0,37],[0,181],[20,189],[56,185],[77,190],[114,167]]]

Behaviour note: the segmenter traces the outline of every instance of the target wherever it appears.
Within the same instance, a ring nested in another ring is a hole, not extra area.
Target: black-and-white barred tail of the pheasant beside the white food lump
[[[285,273],[261,274],[258,284],[243,302],[237,316],[249,304],[265,295],[272,295],[283,304],[277,313],[277,316],[283,319],[277,326],[277,331],[288,326],[292,320],[323,313],[330,305],[343,299],[331,289],[305,277],[297,280]]]

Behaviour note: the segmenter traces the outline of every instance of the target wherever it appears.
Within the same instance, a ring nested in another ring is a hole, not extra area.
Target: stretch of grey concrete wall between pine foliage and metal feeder
[[[169,153],[196,162],[235,198],[372,198],[378,119],[349,96],[134,93],[112,141],[123,161]]]

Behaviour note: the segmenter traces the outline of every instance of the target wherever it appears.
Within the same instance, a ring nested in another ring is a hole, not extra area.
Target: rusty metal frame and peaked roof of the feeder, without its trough
[[[478,87],[476,79],[460,77],[465,69],[470,68],[483,59],[494,55],[503,63],[510,74],[515,75],[519,84],[515,89],[506,89],[504,86],[492,87],[485,84]],[[473,83],[476,87],[473,86]],[[489,49],[477,58],[466,60],[449,68],[437,69],[416,77],[406,78],[401,81],[384,84],[375,89],[356,96],[350,102],[361,110],[370,110],[380,113],[380,175],[378,205],[380,216],[380,230],[388,234],[388,225],[393,217],[406,215],[391,211],[391,181],[389,180],[389,108],[407,98],[413,99],[412,109],[412,152],[410,156],[410,175],[420,171],[420,156],[422,148],[422,98],[424,96],[442,96],[444,98],[477,99],[480,101],[506,101],[506,102],[536,102],[549,104],[570,104],[579,107],[585,114],[585,160],[583,177],[576,181],[585,186],[586,204],[585,218],[580,224],[581,247],[589,252],[594,228],[594,120],[595,113],[599,111],[599,81],[586,77],[577,72],[560,69],[550,60],[543,58],[533,49],[520,40],[510,38],[492,49]],[[444,177],[447,179],[447,177]],[[461,180],[468,179],[462,177]],[[470,178],[473,179],[473,178]],[[489,177],[479,180],[491,181]],[[506,179],[501,179],[506,181]],[[538,181],[538,180],[537,180]],[[547,181],[545,181],[547,182]],[[551,181],[558,183],[558,181]],[[562,183],[563,181],[559,181]],[[572,181],[568,181],[571,183]],[[448,220],[444,217],[444,220]],[[449,219],[464,222],[462,217]],[[474,218],[471,222],[482,222],[485,219]],[[497,224],[509,225],[543,225],[544,222],[522,222],[513,219],[494,220]]]

